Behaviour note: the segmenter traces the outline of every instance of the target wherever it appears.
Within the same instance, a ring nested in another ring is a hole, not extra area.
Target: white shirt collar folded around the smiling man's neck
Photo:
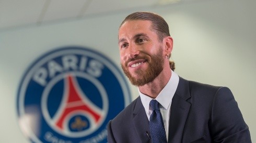
[[[156,97],[156,100],[160,103],[160,105],[166,110],[171,105],[172,97],[174,96],[176,89],[179,83],[179,76],[177,73],[171,70],[171,78],[169,79],[166,86],[161,90],[161,92]],[[142,104],[147,113],[149,113],[149,102],[153,99],[145,94],[141,93],[138,89],[139,96],[141,97]],[[169,99],[169,100],[167,100]]]

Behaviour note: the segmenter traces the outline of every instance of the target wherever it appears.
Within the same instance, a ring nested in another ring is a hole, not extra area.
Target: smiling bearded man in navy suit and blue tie
[[[227,87],[173,72],[172,38],[162,17],[135,12],[121,23],[118,38],[122,69],[139,97],[109,122],[109,143],[251,142]]]

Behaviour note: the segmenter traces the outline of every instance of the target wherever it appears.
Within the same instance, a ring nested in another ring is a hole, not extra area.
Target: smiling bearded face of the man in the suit
[[[131,83],[143,86],[152,82],[162,71],[165,56],[151,22],[126,21],[118,37],[121,66]]]

